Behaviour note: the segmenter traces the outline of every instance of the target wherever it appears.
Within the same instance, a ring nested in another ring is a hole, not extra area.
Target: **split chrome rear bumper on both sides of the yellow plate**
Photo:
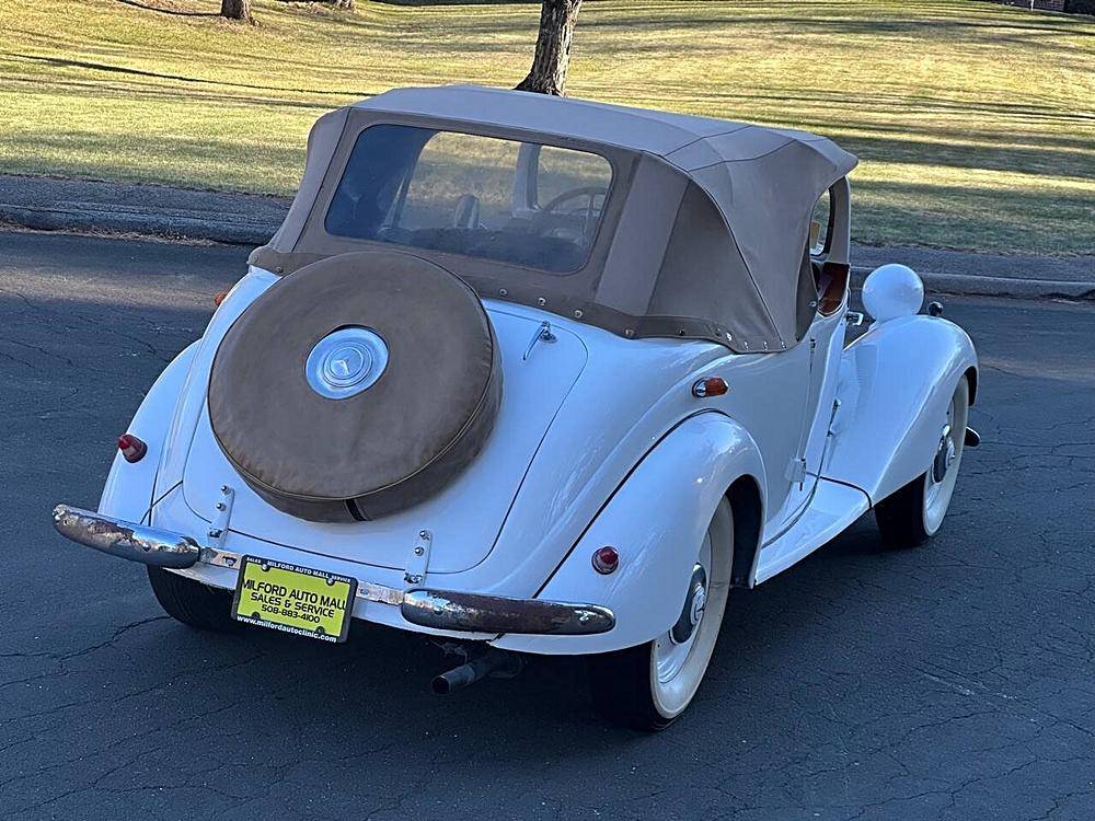
[[[239,554],[203,547],[197,540],[160,528],[135,524],[91,510],[58,505],[54,528],[66,539],[112,556],[153,567],[184,569],[201,563],[235,568]],[[411,624],[457,633],[587,636],[608,633],[615,616],[597,604],[509,599],[454,590],[399,590],[359,581],[357,598],[396,605]]]

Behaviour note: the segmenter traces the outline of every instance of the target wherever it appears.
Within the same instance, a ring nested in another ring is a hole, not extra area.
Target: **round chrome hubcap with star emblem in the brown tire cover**
[[[330,400],[356,396],[388,367],[388,345],[366,327],[344,327],[320,339],[304,362],[309,386]]]

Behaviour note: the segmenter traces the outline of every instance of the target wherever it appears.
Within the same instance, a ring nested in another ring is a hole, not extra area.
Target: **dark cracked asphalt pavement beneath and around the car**
[[[945,300],[981,385],[942,533],[869,516],[737,591],[656,736],[577,659],[438,697],[422,638],[328,646],[166,618],[66,542],[114,437],[245,248],[0,233],[0,818],[1095,818],[1095,307]]]

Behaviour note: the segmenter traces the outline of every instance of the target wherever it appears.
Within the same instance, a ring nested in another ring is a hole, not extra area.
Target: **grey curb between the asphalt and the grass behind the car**
[[[143,234],[170,240],[203,240],[230,245],[263,245],[274,235],[276,224],[231,215],[212,219],[208,211],[168,210],[150,213],[147,209],[112,205],[110,210],[95,204],[73,204],[83,208],[27,208],[0,203],[0,224],[7,223],[38,231],[79,231],[96,234]],[[852,284],[863,285],[872,268],[852,267]],[[967,274],[917,271],[924,288],[934,293],[958,297],[1007,297],[1012,299],[1069,299],[1095,301],[1095,282],[1018,277],[984,277]]]

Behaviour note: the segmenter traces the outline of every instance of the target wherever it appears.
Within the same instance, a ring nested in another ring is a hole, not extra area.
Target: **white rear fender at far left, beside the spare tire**
[[[99,500],[100,513],[143,523],[152,507],[155,475],[168,438],[168,428],[197,345],[196,342],[191,343],[168,363],[137,408],[128,432],[143,441],[148,446],[148,452],[143,459],[132,464],[126,462],[122,453],[115,453],[103,496]]]

